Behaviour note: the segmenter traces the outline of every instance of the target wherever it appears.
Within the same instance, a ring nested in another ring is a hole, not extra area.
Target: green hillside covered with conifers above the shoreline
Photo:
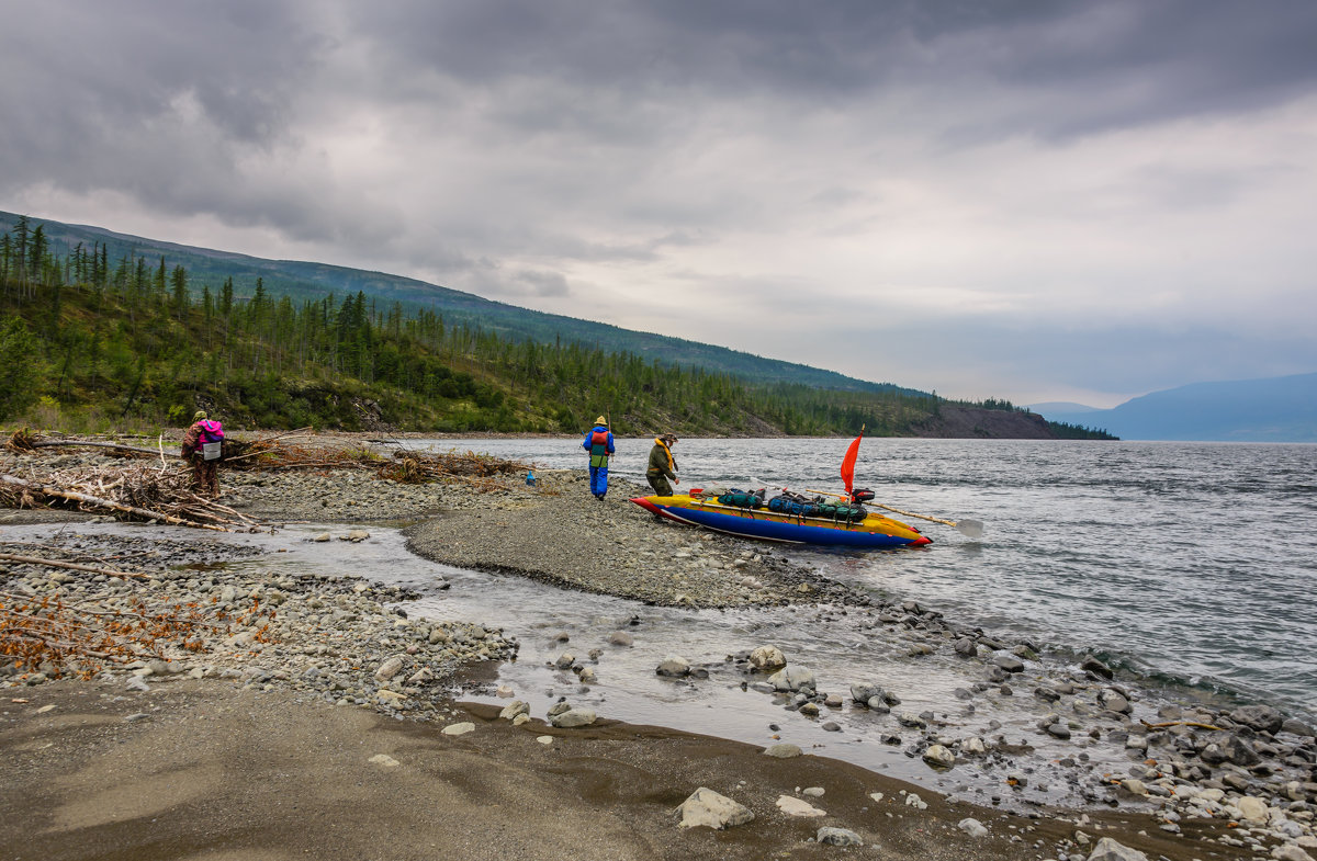
[[[196,283],[165,257],[55,254],[42,225],[0,236],[0,421],[67,429],[248,428],[914,436],[940,399],[896,387],[751,383],[579,344],[512,340],[363,291],[294,300],[257,279]],[[981,404],[1010,412],[1010,404]],[[1063,436],[1077,428],[1058,427]]]

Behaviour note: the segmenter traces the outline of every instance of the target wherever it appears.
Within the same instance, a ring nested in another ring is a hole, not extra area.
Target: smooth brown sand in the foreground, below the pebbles
[[[1048,858],[1076,825],[922,794],[898,781],[803,756],[601,720],[578,729],[514,727],[493,707],[456,715],[475,729],[183,679],[151,691],[58,682],[5,691],[0,847],[7,858]],[[14,699],[28,702],[16,703]],[[549,736],[551,744],[537,739]],[[378,754],[396,765],[373,762]],[[705,786],[755,820],[680,828],[673,810]],[[809,798],[826,818],[776,807]],[[881,802],[871,794],[882,793]],[[973,816],[990,835],[956,823]],[[1093,812],[1093,835],[1150,858],[1229,858],[1143,816]],[[810,843],[822,825],[864,847]],[[1144,831],[1146,835],[1139,833]],[[1077,849],[1076,849],[1077,850]],[[1087,857],[1088,852],[1083,852]]]

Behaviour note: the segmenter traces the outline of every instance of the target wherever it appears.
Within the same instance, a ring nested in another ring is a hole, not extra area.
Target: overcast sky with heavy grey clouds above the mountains
[[[0,0],[0,209],[954,398],[1317,371],[1317,3]]]

